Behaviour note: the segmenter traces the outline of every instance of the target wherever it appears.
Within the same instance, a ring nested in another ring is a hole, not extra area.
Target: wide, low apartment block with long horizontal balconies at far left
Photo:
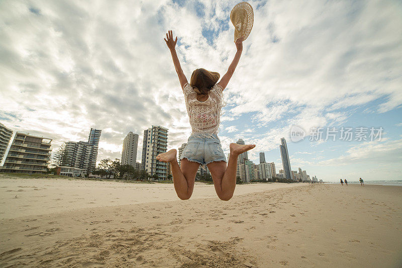
[[[17,132],[2,172],[44,173],[47,171],[52,139]]]

